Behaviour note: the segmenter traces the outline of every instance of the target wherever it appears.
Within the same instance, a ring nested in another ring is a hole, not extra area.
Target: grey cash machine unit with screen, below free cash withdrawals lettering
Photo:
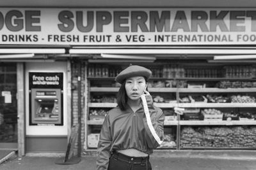
[[[63,125],[61,89],[31,89],[30,125]]]

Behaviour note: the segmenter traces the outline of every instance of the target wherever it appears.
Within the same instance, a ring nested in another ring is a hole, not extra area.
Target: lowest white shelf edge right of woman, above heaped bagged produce
[[[180,125],[256,125],[256,120],[180,120]]]

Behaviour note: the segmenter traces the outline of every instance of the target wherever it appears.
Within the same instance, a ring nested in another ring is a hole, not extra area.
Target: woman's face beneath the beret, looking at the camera
[[[143,76],[134,76],[125,80],[125,90],[129,99],[138,100],[147,88],[147,83]]]

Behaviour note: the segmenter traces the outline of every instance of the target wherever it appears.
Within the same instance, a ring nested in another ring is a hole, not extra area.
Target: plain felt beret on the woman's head
[[[133,76],[145,76],[145,78],[150,78],[152,72],[145,68],[145,67],[141,67],[141,66],[129,66],[126,69],[124,69],[123,71],[121,71],[115,78],[115,80],[118,83],[123,83],[123,81],[126,78],[130,78]]]

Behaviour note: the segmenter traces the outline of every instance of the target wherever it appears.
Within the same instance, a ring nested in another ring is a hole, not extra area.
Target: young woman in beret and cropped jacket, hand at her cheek
[[[100,131],[97,169],[152,169],[149,155],[163,139],[163,111],[147,92],[151,71],[129,66],[115,80],[118,106],[109,111]]]

